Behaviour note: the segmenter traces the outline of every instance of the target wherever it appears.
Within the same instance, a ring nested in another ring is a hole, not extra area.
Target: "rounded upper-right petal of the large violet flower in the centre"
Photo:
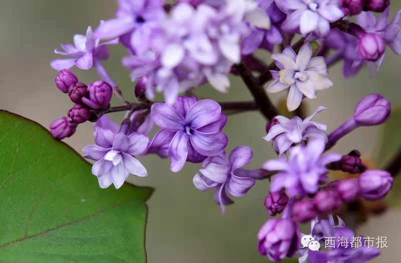
[[[198,129],[220,119],[222,107],[213,100],[200,100],[188,111],[185,122],[192,129]]]

